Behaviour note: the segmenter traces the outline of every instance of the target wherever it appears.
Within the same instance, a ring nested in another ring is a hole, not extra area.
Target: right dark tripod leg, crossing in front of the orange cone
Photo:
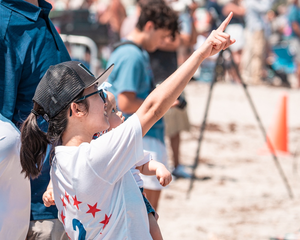
[[[288,181],[287,181],[287,178],[286,178],[286,176],[284,175],[284,172],[283,172],[283,170],[282,170],[282,167],[281,167],[281,165],[280,165],[280,163],[279,163],[279,161],[278,161],[278,159],[277,159],[277,156],[276,156],[276,154],[275,154],[274,147],[273,147],[271,141],[268,139],[268,135],[267,135],[267,133],[266,133],[266,131],[265,131],[265,128],[264,128],[264,126],[262,125],[262,122],[261,122],[261,120],[260,120],[260,118],[259,118],[259,116],[258,116],[258,113],[257,113],[257,111],[256,111],[256,109],[255,109],[255,107],[254,107],[254,104],[253,104],[253,101],[252,101],[252,99],[251,99],[251,97],[250,97],[250,94],[249,94],[247,85],[244,83],[243,79],[241,78],[241,74],[240,74],[240,72],[239,72],[239,70],[238,70],[238,66],[237,66],[237,65],[235,64],[235,62],[233,61],[231,51],[230,51],[229,49],[227,49],[227,50],[230,52],[230,55],[231,55],[231,63],[232,63],[232,65],[234,66],[235,71],[236,71],[236,74],[237,74],[238,78],[239,78],[240,81],[241,81],[241,84],[242,84],[242,86],[243,86],[243,88],[244,88],[245,94],[246,94],[246,96],[247,96],[247,98],[248,98],[248,101],[249,101],[249,103],[250,103],[250,106],[251,106],[251,108],[252,108],[252,110],[253,110],[254,116],[255,116],[255,118],[256,118],[256,120],[257,120],[257,122],[258,122],[259,128],[260,128],[260,130],[262,131],[262,135],[263,135],[263,137],[265,138],[265,141],[266,141],[267,143],[270,143],[270,147],[271,147],[270,150],[271,150],[271,154],[272,154],[272,156],[273,156],[274,163],[275,163],[275,165],[276,165],[276,167],[277,167],[277,169],[278,169],[278,171],[279,171],[279,174],[280,174],[280,176],[281,176],[281,178],[282,178],[282,180],[283,180],[283,183],[284,183],[285,186],[286,186],[286,189],[287,189],[287,191],[288,191],[288,193],[289,193],[289,197],[292,199],[292,198],[293,198],[292,189],[291,189],[291,187],[289,186],[289,183],[288,183]]]

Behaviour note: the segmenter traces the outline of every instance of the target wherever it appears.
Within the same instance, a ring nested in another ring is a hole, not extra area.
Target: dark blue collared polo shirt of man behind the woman
[[[0,113],[18,127],[33,107],[32,98],[51,65],[70,61],[70,56],[48,15],[51,4],[40,7],[23,0],[0,0]],[[48,125],[38,118],[39,126]],[[31,180],[30,220],[57,218],[57,208],[44,206],[42,196],[50,180],[49,155],[42,175]]]

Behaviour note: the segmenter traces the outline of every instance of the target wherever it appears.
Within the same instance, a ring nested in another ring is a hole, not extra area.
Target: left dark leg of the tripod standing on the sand
[[[223,50],[220,51],[219,56],[217,58],[217,63],[216,63],[216,66],[214,68],[214,79],[212,79],[211,84],[210,84],[210,88],[209,88],[209,93],[208,93],[208,98],[207,98],[207,101],[206,101],[204,118],[203,118],[203,121],[202,121],[202,124],[201,124],[200,136],[199,136],[199,139],[198,139],[198,146],[197,146],[196,156],[195,156],[193,169],[192,169],[192,176],[190,178],[190,187],[187,190],[187,199],[190,197],[190,191],[193,188],[193,182],[195,180],[195,171],[196,171],[196,168],[197,168],[198,162],[199,162],[200,147],[201,147],[201,142],[202,142],[205,126],[206,126],[206,119],[207,119],[208,109],[209,109],[209,105],[210,105],[210,101],[211,101],[212,88],[213,88],[215,82],[217,81],[217,76],[218,76],[218,72],[220,71],[220,68],[223,68],[223,66],[222,66],[222,63],[223,63],[222,54],[223,54]]]

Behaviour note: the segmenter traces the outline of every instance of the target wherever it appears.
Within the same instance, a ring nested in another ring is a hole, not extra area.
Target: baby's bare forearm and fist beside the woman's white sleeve
[[[142,166],[136,167],[140,173],[148,176],[156,175],[159,183],[165,187],[172,181],[172,175],[164,164],[151,160]]]

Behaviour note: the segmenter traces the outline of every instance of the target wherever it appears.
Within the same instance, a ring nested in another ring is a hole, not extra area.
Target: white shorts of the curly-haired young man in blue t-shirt
[[[152,155],[152,159],[158,161],[166,166],[168,169],[168,156],[164,143],[154,137],[143,137],[144,150],[148,151]],[[156,176],[146,176],[140,174],[144,181],[144,188],[149,190],[161,190],[163,186],[159,183]]]

